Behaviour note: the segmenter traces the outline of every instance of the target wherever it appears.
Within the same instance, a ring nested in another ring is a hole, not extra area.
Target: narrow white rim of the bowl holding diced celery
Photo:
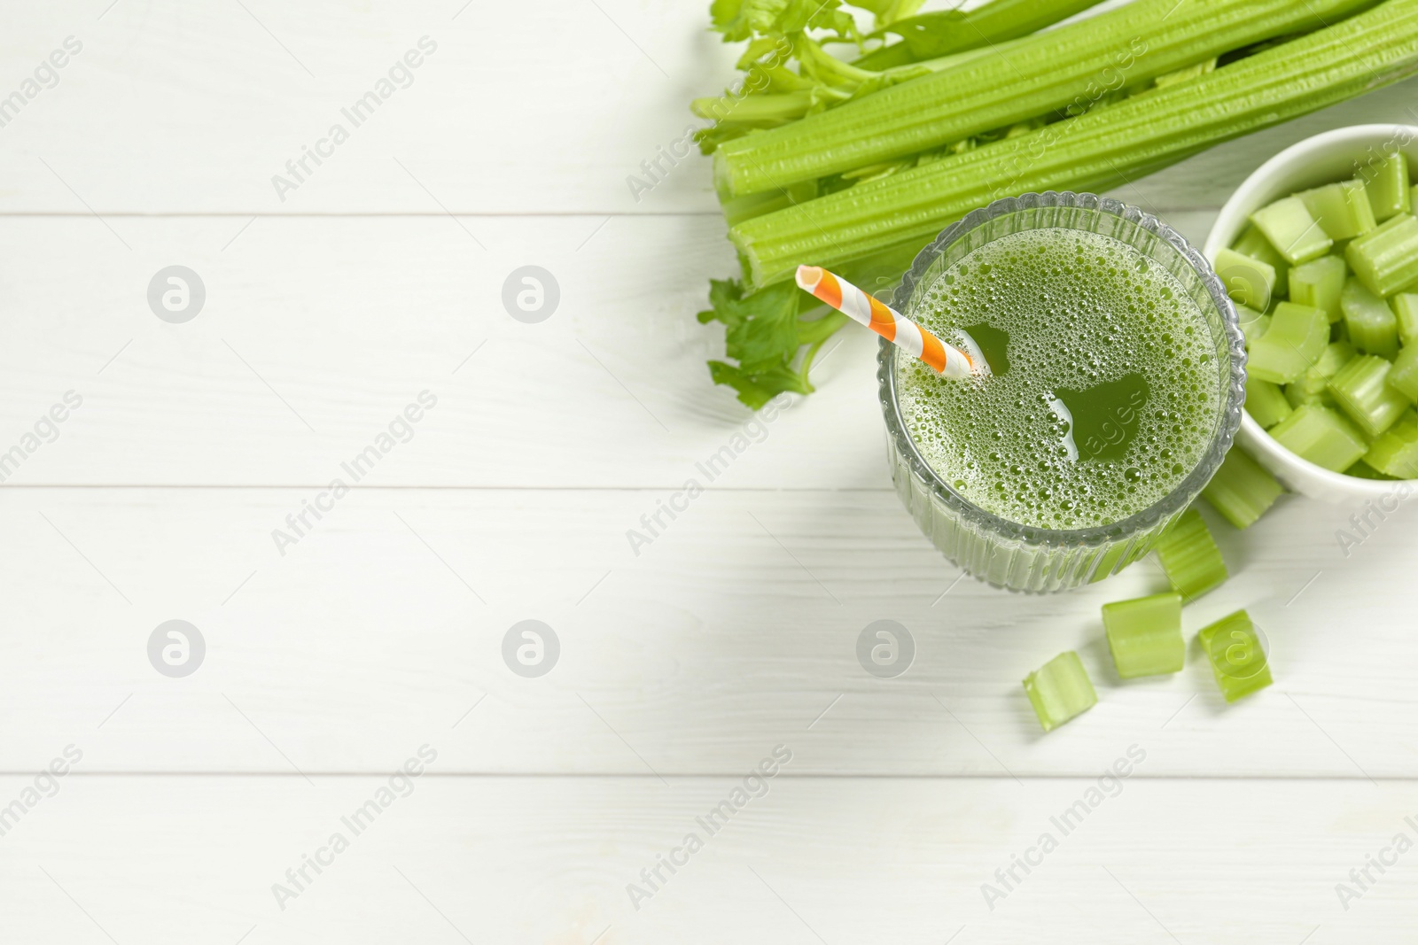
[[[1289,173],[1295,164],[1300,163],[1313,152],[1336,143],[1356,146],[1360,143],[1385,143],[1398,135],[1407,135],[1407,145],[1412,145],[1418,142],[1418,126],[1405,125],[1402,122],[1349,125],[1320,132],[1319,135],[1312,135],[1310,137],[1290,145],[1251,171],[1241,186],[1231,193],[1231,197],[1228,197],[1221,205],[1221,211],[1217,214],[1217,220],[1211,225],[1211,231],[1207,234],[1207,239],[1202,244],[1202,255],[1207,256],[1208,262],[1212,262],[1219,249],[1229,247],[1231,241],[1234,241],[1236,234],[1241,231],[1241,221],[1229,220],[1229,217],[1239,215],[1236,208],[1255,200],[1256,193],[1262,191],[1276,177],[1282,177]],[[1358,152],[1356,150],[1356,153]],[[1246,213],[1242,220],[1248,217],[1249,213]],[[1235,230],[1235,232],[1228,234],[1227,239],[1222,239],[1221,225],[1224,222],[1234,222]],[[1242,411],[1241,414],[1241,434],[1238,441],[1239,439],[1244,439],[1246,446],[1251,449],[1265,453],[1276,465],[1295,470],[1296,475],[1293,477],[1282,476],[1290,479],[1286,485],[1312,497],[1323,496],[1314,494],[1319,492],[1317,489],[1305,489],[1303,483],[1306,482],[1319,485],[1332,493],[1344,493],[1354,499],[1375,499],[1385,496],[1402,483],[1418,486],[1418,479],[1360,479],[1358,476],[1346,476],[1344,473],[1317,466],[1303,456],[1296,456],[1286,446],[1278,443],[1248,411]]]

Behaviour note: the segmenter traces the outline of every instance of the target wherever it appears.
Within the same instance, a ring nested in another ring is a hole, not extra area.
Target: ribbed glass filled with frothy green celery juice
[[[878,370],[902,502],[990,584],[1116,574],[1201,493],[1241,424],[1245,349],[1221,282],[1115,200],[977,210],[916,256],[893,305],[990,366],[951,381],[883,341]]]

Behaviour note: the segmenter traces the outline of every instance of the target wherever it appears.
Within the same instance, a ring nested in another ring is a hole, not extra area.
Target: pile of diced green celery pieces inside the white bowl
[[[1414,479],[1415,187],[1401,150],[1356,159],[1357,176],[1258,208],[1214,262],[1241,315],[1251,418],[1323,469]]]

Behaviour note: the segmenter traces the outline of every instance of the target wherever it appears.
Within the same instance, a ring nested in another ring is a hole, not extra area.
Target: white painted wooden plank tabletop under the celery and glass
[[[1123,684],[1098,608],[1156,565],[959,581],[891,492],[859,333],[632,551],[749,419],[693,320],[733,269],[706,162],[625,181],[732,77],[705,6],[4,4],[0,96],[82,50],[0,128],[0,938],[1411,941],[1418,853],[1383,853],[1418,840],[1411,509],[1349,557],[1349,510],[1222,524],[1234,578],[1187,629],[1248,608],[1276,684],[1228,708],[1195,652]],[[1265,156],[1415,91],[1119,196],[1200,241]],[[147,302],[170,265],[206,289],[183,323]],[[525,265],[560,289],[539,323],[502,305]],[[206,642],[183,677],[149,660],[174,619]],[[540,677],[502,656],[526,619],[560,643]],[[916,642],[896,679],[856,662],[878,619]],[[1100,703],[1044,737],[1018,680],[1065,649]]]

